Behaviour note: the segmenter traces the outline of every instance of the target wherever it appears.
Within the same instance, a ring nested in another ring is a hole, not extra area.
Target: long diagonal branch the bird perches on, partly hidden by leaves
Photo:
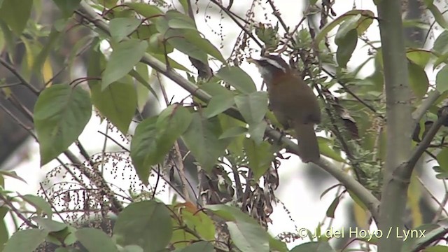
[[[85,13],[86,18],[91,22],[93,22],[94,25],[97,26],[97,28],[106,32],[106,34],[110,34],[109,26],[87,3],[81,2],[80,10],[82,10],[83,13]],[[164,76],[167,76],[167,78],[173,80],[174,83],[183,87],[183,89],[190,92],[190,94],[192,94],[193,96],[207,103],[210,101],[211,96],[207,92],[204,92],[204,90],[201,90],[200,87],[198,87],[194,83],[191,83],[186,78],[183,78],[183,76],[181,76],[173,69],[167,69],[167,66],[165,64],[160,62],[155,57],[149,55],[148,53],[145,53],[145,55],[141,59],[141,62],[148,64],[148,66],[151,66],[153,69],[155,69],[155,71],[158,71],[162,73]],[[227,111],[225,111],[225,113],[228,116],[232,116],[233,118],[236,118],[244,122],[244,118],[241,116],[239,111],[234,107],[228,109]],[[290,151],[291,153],[295,154],[298,153],[297,144],[294,144],[294,142],[291,141],[290,139],[282,137],[280,132],[273,130],[271,127],[267,127],[265,130],[265,134],[267,135],[267,137],[273,139],[275,142],[280,141],[284,146],[286,146],[287,150]],[[344,183],[344,186],[346,186],[348,190],[355,193],[360,198],[360,201],[363,202],[363,204],[365,204],[365,206],[372,213],[372,216],[374,216],[375,219],[377,218],[379,201],[377,200],[376,197],[372,195],[372,193],[370,193],[367,189],[365,189],[358,181],[353,179],[353,177],[345,174],[344,172],[342,172],[341,169],[338,169],[337,167],[335,167],[335,165],[332,165],[330,162],[320,160],[316,162],[316,165],[324,169],[326,172],[330,173],[341,183]]]

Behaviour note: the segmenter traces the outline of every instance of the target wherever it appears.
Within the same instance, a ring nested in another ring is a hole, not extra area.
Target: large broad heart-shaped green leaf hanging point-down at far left
[[[41,165],[66,151],[78,139],[92,116],[89,93],[82,87],[52,85],[34,106],[34,125],[40,144]]]

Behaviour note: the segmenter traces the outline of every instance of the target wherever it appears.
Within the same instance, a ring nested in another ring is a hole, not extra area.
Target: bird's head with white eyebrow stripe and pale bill
[[[276,76],[286,74],[290,71],[290,66],[280,55],[265,55],[260,59],[247,59],[247,62],[253,63],[258,67],[261,77],[266,83],[270,83]]]

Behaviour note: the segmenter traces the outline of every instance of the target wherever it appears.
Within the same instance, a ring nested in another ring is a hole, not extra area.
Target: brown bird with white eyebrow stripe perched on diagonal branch
[[[311,87],[280,55],[247,61],[258,67],[267,85],[269,109],[285,130],[292,127],[295,131],[302,162],[318,161],[321,154],[314,126],[321,123],[321,109]]]

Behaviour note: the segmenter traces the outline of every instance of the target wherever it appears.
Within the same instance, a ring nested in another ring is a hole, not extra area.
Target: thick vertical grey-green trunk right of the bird
[[[408,80],[405,34],[401,19],[401,1],[377,3],[379,33],[383,50],[386,91],[386,165],[379,209],[379,230],[405,228],[402,218],[407,204],[407,189],[414,167],[405,165],[411,154],[411,90]],[[403,169],[404,168],[404,169]],[[403,240],[397,235],[379,239],[378,251],[400,251]]]

